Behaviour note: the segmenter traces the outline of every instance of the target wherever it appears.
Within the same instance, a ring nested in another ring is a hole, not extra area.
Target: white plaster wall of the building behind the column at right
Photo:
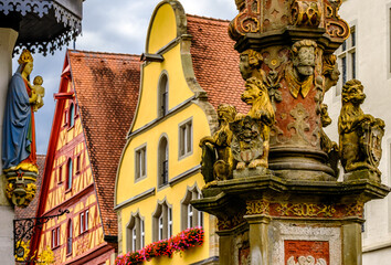
[[[364,86],[367,99],[362,105],[364,113],[385,121],[383,157],[380,163],[382,182],[391,184],[391,74],[390,74],[390,8],[391,0],[346,0],[340,17],[349,24],[356,24],[357,34],[357,78]],[[335,89],[328,92],[325,103],[329,106],[332,124],[326,132],[338,142],[337,123],[340,112],[340,96]],[[363,264],[391,264],[391,197],[371,201],[366,205],[366,232],[363,250],[390,247],[363,253]],[[388,258],[385,258],[388,256]]]

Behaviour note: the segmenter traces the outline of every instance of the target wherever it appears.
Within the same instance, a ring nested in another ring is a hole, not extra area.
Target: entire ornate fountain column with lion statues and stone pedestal
[[[332,52],[349,36],[341,1],[235,2],[229,33],[251,110],[219,107],[219,130],[200,142],[208,183],[192,201],[219,220],[220,264],[359,265],[364,203],[390,189],[377,169],[384,123],[360,109],[360,82],[342,89],[339,146],[323,130]]]

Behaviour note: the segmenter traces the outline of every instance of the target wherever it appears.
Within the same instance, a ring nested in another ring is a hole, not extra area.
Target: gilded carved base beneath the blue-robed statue
[[[35,197],[38,170],[34,172],[18,169],[3,173],[7,179],[6,194],[8,200],[17,206],[27,208]]]

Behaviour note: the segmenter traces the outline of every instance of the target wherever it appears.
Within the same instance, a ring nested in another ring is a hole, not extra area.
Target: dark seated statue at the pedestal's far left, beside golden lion
[[[218,107],[219,129],[213,136],[200,140],[202,148],[201,172],[205,182],[232,178],[234,160],[231,151],[232,131],[230,123],[236,115],[236,108],[228,104]]]

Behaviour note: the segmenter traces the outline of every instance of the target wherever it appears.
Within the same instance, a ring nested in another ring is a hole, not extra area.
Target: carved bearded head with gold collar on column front
[[[293,65],[288,66],[285,77],[295,98],[298,94],[305,98],[314,84],[316,47],[316,42],[310,40],[297,41],[292,46]]]

